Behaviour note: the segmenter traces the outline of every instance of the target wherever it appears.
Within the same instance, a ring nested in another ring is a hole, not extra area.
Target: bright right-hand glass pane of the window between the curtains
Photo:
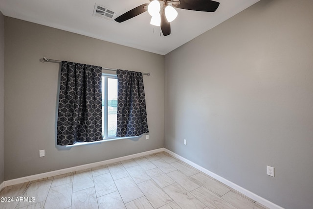
[[[108,137],[116,136],[117,79],[108,78]]]

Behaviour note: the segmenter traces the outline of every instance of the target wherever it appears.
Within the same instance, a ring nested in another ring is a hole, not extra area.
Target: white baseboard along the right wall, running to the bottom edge
[[[231,181],[228,181],[227,179],[224,179],[223,177],[221,177],[221,176],[219,176],[219,175],[217,175],[217,174],[215,174],[215,173],[213,173],[213,172],[211,172],[211,171],[201,167],[200,165],[198,165],[196,163],[193,163],[193,162],[191,162],[191,161],[181,157],[180,155],[178,155],[178,154],[176,154],[176,153],[174,153],[174,152],[172,152],[172,151],[170,151],[168,149],[164,148],[164,152],[167,152],[167,153],[173,155],[174,157],[178,158],[179,160],[181,160],[181,161],[183,161],[183,162],[185,162],[185,163],[187,163],[187,164],[197,168],[198,170],[202,171],[203,173],[205,173],[205,174],[211,176],[212,178],[222,182],[223,184],[233,188],[234,190],[239,191],[240,193],[242,193],[242,194],[246,195],[247,197],[251,198],[252,200],[255,200],[256,202],[261,203],[262,205],[264,205],[264,206],[266,206],[266,207],[268,207],[270,209],[284,209],[284,208],[282,208],[282,207],[280,207],[280,206],[278,206],[278,205],[268,201],[267,199],[265,199],[263,197],[260,197],[259,195],[254,194],[253,192],[251,192],[251,191],[249,191],[249,190],[247,190],[247,189],[245,189],[245,188],[243,188],[241,186],[238,186],[235,183],[233,183]]]

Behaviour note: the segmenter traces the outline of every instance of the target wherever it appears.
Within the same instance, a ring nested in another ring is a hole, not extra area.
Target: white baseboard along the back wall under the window
[[[75,171],[80,171],[80,170],[84,170],[84,169],[89,169],[89,168],[97,167],[97,166],[100,166],[100,165],[105,165],[105,164],[110,164],[110,163],[117,163],[117,162],[120,162],[120,161],[125,161],[125,160],[129,160],[129,159],[132,159],[132,158],[138,158],[138,157],[141,157],[141,156],[150,155],[150,154],[157,153],[157,152],[162,152],[162,151],[164,151],[164,148],[159,148],[159,149],[155,149],[155,150],[141,152],[141,153],[137,153],[137,154],[134,154],[134,155],[123,156],[123,157],[120,157],[120,158],[114,158],[114,159],[110,159],[110,160],[106,160],[106,161],[101,161],[101,162],[96,162],[96,163],[89,163],[89,164],[79,165],[79,166],[65,168],[65,169],[61,169],[61,170],[55,170],[55,171],[50,171],[50,172],[46,172],[46,173],[35,174],[35,175],[26,176],[26,177],[22,177],[22,178],[18,178],[18,179],[11,179],[11,180],[8,180],[8,181],[4,181],[1,184],[0,185],[0,190],[1,190],[1,186],[3,188],[4,186],[17,185],[17,184],[21,184],[21,183],[24,183],[24,182],[29,182],[29,181],[34,181],[34,180],[38,180],[38,179],[48,178],[48,177],[57,176],[57,175],[61,175],[61,174],[66,174],[66,173],[70,173],[70,172],[75,172]]]

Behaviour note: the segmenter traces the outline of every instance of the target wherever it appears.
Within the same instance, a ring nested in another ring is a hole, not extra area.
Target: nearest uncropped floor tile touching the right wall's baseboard
[[[222,196],[230,191],[230,188],[228,188],[221,182],[218,182],[210,178],[208,175],[205,175],[204,173],[197,173],[191,176],[191,178],[194,179],[196,182],[198,182],[198,184],[201,184],[202,186],[213,191],[219,196]]]

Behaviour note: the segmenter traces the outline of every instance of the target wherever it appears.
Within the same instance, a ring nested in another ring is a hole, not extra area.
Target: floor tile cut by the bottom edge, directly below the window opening
[[[126,209],[118,191],[98,197],[99,209]]]

